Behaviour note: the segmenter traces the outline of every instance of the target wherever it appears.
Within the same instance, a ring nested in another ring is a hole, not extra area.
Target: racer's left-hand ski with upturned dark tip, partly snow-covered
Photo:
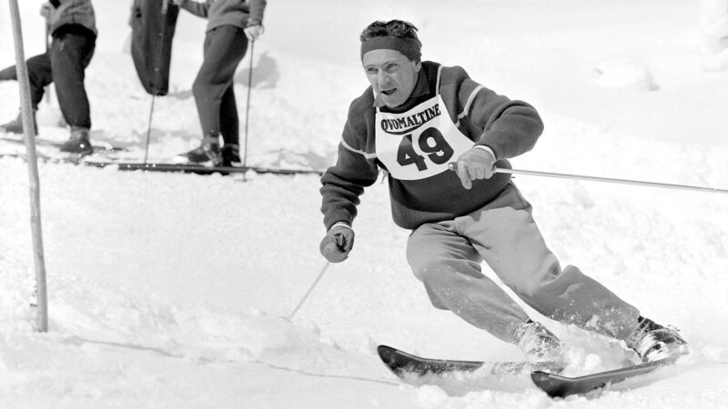
[[[478,371],[479,374],[495,376],[528,374],[536,370],[558,373],[563,369],[562,364],[557,362],[487,362],[422,358],[387,345],[379,345],[377,352],[379,358],[389,367],[389,370],[402,379],[422,377],[429,374],[443,376],[451,373],[473,373],[475,371]]]

